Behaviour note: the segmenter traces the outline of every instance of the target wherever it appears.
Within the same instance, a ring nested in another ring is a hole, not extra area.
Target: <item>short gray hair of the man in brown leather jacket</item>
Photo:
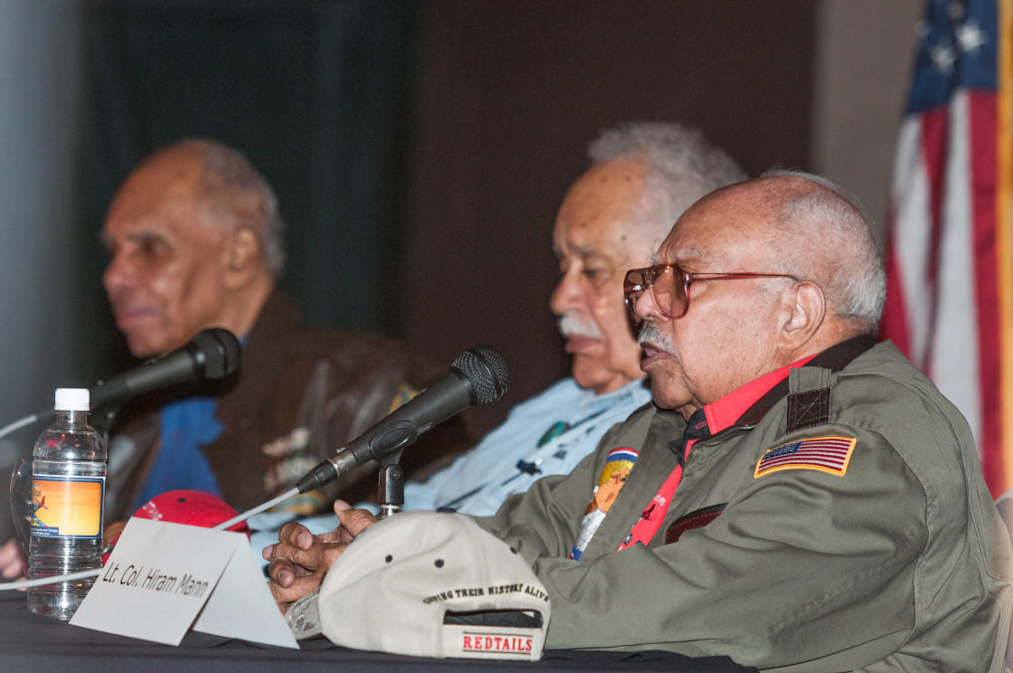
[[[202,205],[216,222],[229,229],[246,227],[252,231],[260,243],[264,266],[277,280],[285,270],[285,223],[279,214],[278,197],[267,180],[242,152],[211,140],[188,138],[162,152],[169,151],[198,158],[202,167],[198,198]]]

